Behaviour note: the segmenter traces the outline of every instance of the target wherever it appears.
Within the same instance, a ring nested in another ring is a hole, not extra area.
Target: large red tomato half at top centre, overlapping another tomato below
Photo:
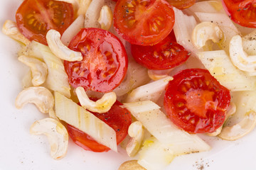
[[[114,8],[114,28],[124,40],[154,45],[174,26],[174,10],[164,0],[119,0]]]

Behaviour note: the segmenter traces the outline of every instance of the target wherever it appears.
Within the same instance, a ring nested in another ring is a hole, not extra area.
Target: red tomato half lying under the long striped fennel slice
[[[97,118],[110,125],[117,132],[117,145],[127,136],[129,125],[132,123],[132,115],[126,108],[121,108],[119,101],[116,101],[107,113],[93,113]],[[71,139],[85,150],[93,152],[107,152],[110,148],[99,144],[89,135],[71,125],[66,125]]]

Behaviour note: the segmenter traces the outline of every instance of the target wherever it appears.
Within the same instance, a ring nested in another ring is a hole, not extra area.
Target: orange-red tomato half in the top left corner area
[[[63,34],[73,23],[73,15],[72,4],[63,1],[25,0],[16,12],[16,23],[28,40],[47,45],[47,31],[54,29]]]

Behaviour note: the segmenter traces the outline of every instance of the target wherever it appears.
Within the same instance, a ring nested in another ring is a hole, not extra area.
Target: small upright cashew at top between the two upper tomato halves
[[[104,30],[109,30],[113,22],[113,13],[109,6],[102,6],[100,10],[100,18],[98,19],[100,26]]]

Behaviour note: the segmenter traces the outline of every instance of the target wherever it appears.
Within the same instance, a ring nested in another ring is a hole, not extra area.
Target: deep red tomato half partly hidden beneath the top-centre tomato
[[[190,56],[173,35],[153,46],[132,45],[132,56],[148,69],[171,69],[185,62]]]

